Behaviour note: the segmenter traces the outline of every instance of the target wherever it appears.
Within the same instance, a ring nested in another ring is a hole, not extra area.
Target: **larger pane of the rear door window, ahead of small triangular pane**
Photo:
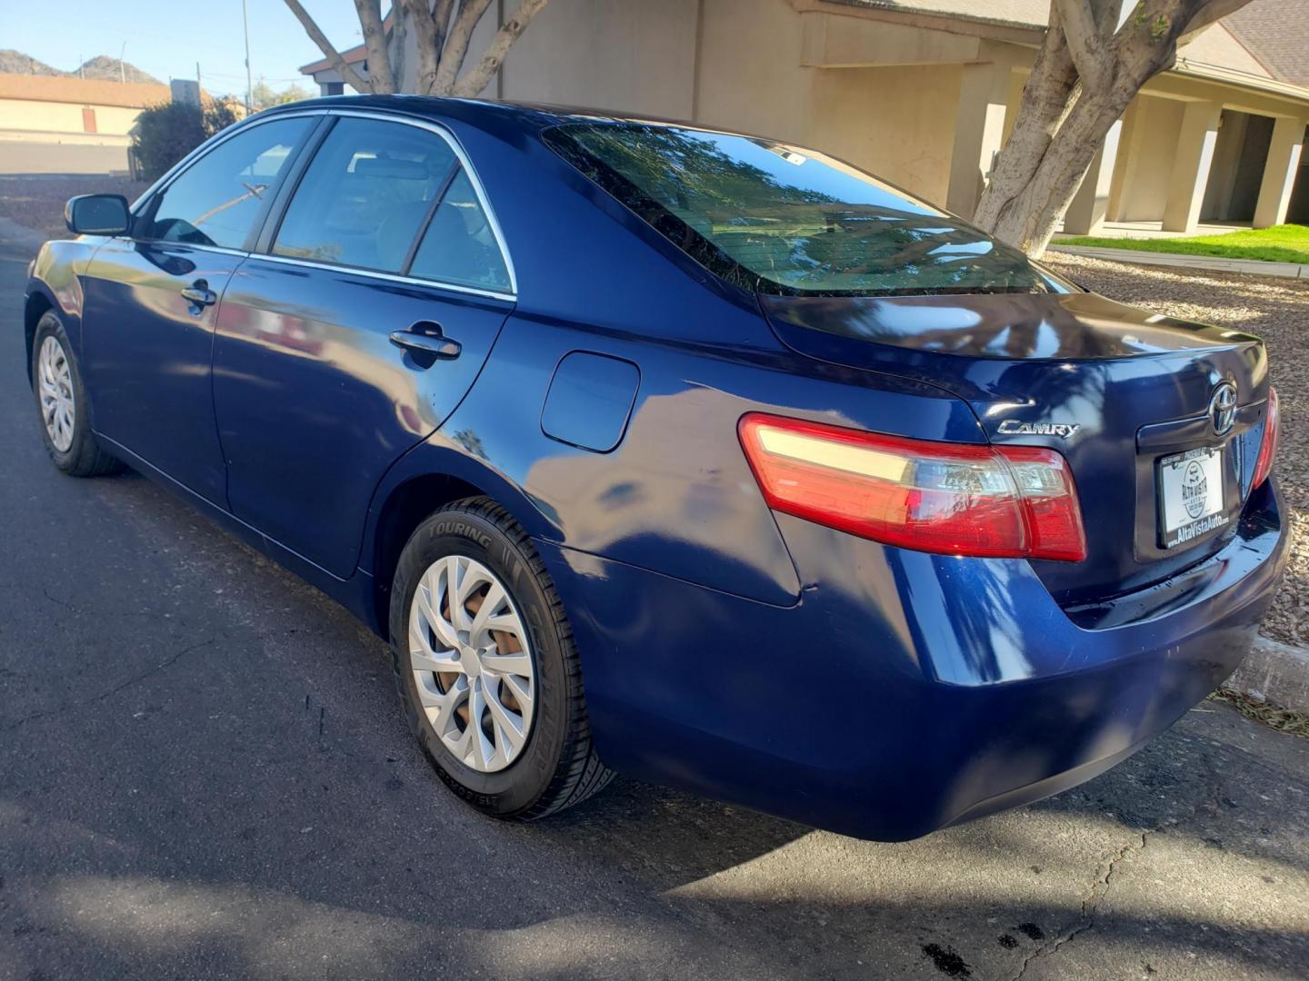
[[[402,272],[457,167],[450,145],[435,133],[343,118],[305,170],[272,252]]]

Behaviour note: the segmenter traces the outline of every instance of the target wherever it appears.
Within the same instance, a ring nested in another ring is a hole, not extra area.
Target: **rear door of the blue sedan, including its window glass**
[[[238,518],[344,578],[386,468],[490,353],[512,267],[440,127],[340,114],[281,196],[219,311],[228,496]]]

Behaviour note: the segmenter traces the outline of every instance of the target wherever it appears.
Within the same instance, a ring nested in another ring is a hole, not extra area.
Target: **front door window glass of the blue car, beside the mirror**
[[[220,143],[164,188],[141,237],[243,247],[291,152],[313,123],[306,116],[278,119]]]

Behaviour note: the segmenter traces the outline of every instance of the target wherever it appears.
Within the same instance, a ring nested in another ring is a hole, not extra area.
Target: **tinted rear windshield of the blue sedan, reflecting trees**
[[[645,123],[546,141],[691,258],[762,293],[1064,292],[1018,250],[813,150]]]

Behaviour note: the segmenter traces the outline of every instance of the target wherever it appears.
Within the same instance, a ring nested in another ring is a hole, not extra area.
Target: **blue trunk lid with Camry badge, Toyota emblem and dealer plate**
[[[1090,293],[759,302],[800,353],[931,382],[965,399],[992,442],[1062,453],[1088,557],[1033,562],[1062,603],[1158,582],[1236,531],[1267,395],[1257,337]],[[1228,386],[1219,432],[1211,403]]]

